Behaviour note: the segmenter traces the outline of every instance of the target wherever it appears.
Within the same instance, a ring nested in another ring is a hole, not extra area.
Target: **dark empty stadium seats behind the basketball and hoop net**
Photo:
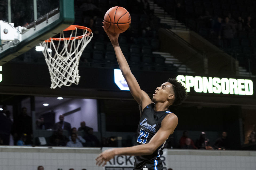
[[[164,57],[152,53],[159,50],[160,43],[157,29],[160,27],[160,19],[158,17],[139,13],[133,9],[136,3],[128,0],[93,0],[91,2],[99,7],[101,11],[105,11],[106,7],[125,6],[124,4],[128,5],[128,9],[131,9],[131,26],[119,36],[119,44],[131,69],[177,71],[177,67],[173,64],[165,63]],[[79,3],[83,2],[75,1],[75,4],[78,5]],[[91,19],[94,20],[93,25],[90,25]],[[75,8],[74,25],[92,27],[91,29],[94,32],[93,39],[82,53],[79,66],[118,68],[114,48],[102,28],[102,21],[101,16],[88,16],[79,6]],[[143,29],[144,31],[142,31]],[[15,58],[13,62],[45,63],[44,60],[41,52],[31,49],[29,52]]]

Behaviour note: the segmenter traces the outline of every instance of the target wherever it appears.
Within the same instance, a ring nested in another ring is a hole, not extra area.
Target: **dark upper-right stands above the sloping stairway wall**
[[[213,24],[217,22],[217,17],[224,18],[231,14],[231,17],[237,21],[241,16],[245,21],[248,16],[251,17],[252,27],[256,26],[256,1],[253,0],[154,0],[158,6],[161,6],[171,16],[175,16],[176,4],[181,3],[184,10],[183,20],[187,27],[199,33],[199,35],[208,39],[211,43],[223,48],[222,41],[217,35],[212,34]],[[206,14],[206,11],[209,12]],[[207,19],[200,19],[200,16],[208,15]],[[211,18],[212,20],[209,20]],[[239,61],[239,65],[249,71],[256,73],[254,69],[256,65],[256,34],[255,31],[238,31],[231,40],[230,48],[223,48],[225,52],[233,56]],[[251,66],[249,66],[249,63]]]

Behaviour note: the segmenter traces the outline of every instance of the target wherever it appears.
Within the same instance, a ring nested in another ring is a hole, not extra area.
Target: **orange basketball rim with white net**
[[[83,32],[81,36],[77,36],[78,29]],[[65,38],[64,31],[71,31],[70,37]],[[59,38],[49,38],[40,43],[40,46],[44,47],[42,52],[49,69],[52,89],[79,83],[79,60],[92,37],[90,28],[70,25],[60,33]],[[61,42],[64,43],[63,48],[60,46]]]

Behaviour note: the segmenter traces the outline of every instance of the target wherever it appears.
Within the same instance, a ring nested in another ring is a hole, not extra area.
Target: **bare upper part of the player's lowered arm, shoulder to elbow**
[[[161,146],[168,137],[173,134],[174,129],[178,125],[178,117],[171,113],[168,114],[161,123],[161,128],[157,131],[157,133],[150,139],[147,145],[150,145],[153,152]]]

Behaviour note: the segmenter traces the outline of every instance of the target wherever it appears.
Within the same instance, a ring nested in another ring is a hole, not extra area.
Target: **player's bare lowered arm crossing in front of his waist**
[[[173,134],[177,125],[178,117],[175,114],[168,114],[163,119],[161,128],[150,139],[149,143],[132,147],[108,149],[98,155],[96,165],[106,165],[115,155],[151,155],[171,134]]]

